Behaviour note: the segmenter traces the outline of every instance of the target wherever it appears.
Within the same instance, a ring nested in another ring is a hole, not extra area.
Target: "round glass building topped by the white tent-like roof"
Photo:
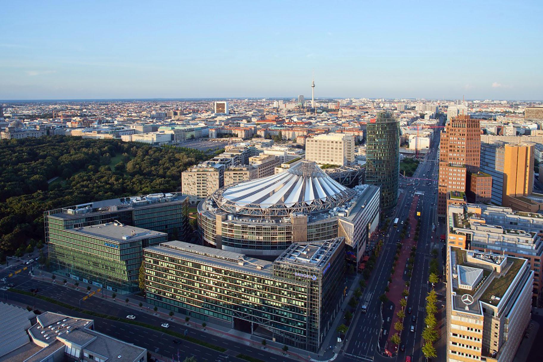
[[[205,245],[247,255],[279,256],[293,242],[338,236],[358,255],[368,230],[362,215],[378,214],[378,194],[369,185],[342,186],[304,160],[285,172],[218,189],[198,204],[198,225]],[[371,207],[364,209],[366,204]]]

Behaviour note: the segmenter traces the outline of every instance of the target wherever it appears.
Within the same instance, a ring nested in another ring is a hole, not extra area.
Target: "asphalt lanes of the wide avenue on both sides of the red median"
[[[407,314],[404,320],[403,333],[401,334],[401,344],[406,345],[406,351],[400,352],[394,359],[396,361],[404,361],[406,355],[411,355],[413,361],[424,360],[424,355],[422,355],[420,348],[425,299],[429,291],[427,283],[428,266],[432,248],[441,247],[439,235],[433,232],[434,224],[437,224],[436,204],[439,168],[437,151],[439,149],[439,136],[439,131],[435,132],[432,148],[425,158],[421,160],[413,175],[414,179],[403,179],[403,177],[400,177],[400,188],[403,190],[403,193],[392,216],[392,219],[399,218],[400,223],[402,220],[405,221],[408,217],[409,207],[411,207],[411,203],[413,202],[414,193],[421,193],[419,195],[420,205],[417,209],[422,210],[423,214],[411,278],[410,294],[407,300],[407,307],[411,307],[413,312],[411,315]],[[435,181],[415,180],[415,178],[432,179]],[[396,251],[396,242],[400,240],[401,233],[401,227],[395,228],[392,224],[388,232],[389,237],[386,239],[387,247],[384,248],[380,259],[378,259],[362,297],[362,303],[370,301],[367,313],[361,313],[360,310],[356,311],[349,332],[345,337],[346,341],[341,351],[343,355],[339,356],[338,360],[360,362],[373,360],[390,361],[390,358],[382,357],[376,352],[378,350],[377,342],[380,339],[383,325],[380,309],[381,301],[378,297],[384,293],[384,288],[388,284],[388,277],[390,276],[390,269],[392,268]],[[437,225],[435,227],[437,230]],[[409,332],[409,326],[413,324],[411,321],[412,315],[416,316],[416,323],[414,323],[416,326],[415,332]],[[383,336],[381,340],[385,338]]]

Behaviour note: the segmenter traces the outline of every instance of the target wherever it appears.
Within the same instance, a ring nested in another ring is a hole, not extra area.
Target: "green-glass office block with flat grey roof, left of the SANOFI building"
[[[165,233],[109,223],[65,230],[60,220],[49,220],[49,257],[58,274],[113,291],[138,290],[144,247],[167,241]],[[108,237],[108,229],[125,233]],[[94,233],[99,231],[100,234]],[[136,233],[131,236],[131,233]],[[125,238],[125,239],[124,239]]]

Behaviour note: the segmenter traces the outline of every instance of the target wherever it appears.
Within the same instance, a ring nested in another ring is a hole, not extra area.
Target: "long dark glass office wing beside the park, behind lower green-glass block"
[[[188,196],[176,192],[87,202],[44,212],[45,241],[49,243],[58,230],[112,221],[165,232],[169,239],[177,239],[185,234],[187,213]]]

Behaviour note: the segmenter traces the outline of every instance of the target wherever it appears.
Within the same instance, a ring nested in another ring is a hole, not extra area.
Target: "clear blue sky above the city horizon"
[[[10,1],[0,99],[543,99],[542,1]]]

